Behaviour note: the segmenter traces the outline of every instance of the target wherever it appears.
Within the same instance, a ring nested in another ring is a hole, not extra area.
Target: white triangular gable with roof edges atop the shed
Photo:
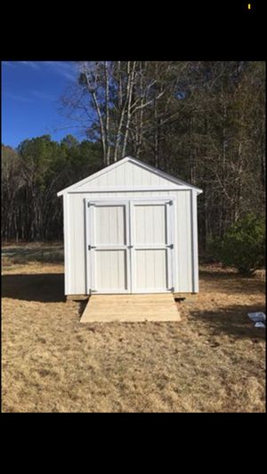
[[[163,189],[181,188],[195,189],[198,194],[201,189],[186,181],[174,178],[154,166],[147,165],[134,157],[125,157],[113,165],[106,166],[101,171],[93,173],[82,181],[62,189],[58,196],[72,192],[90,192],[101,190],[134,189]]]

